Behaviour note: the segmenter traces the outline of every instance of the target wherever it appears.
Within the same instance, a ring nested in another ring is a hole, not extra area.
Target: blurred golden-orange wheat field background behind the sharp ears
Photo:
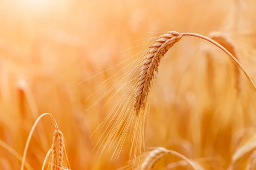
[[[99,157],[93,150],[104,129],[91,136],[119,94],[103,109],[104,101],[93,103],[114,82],[87,98],[128,63],[99,73],[147,48],[151,44],[141,39],[163,31],[205,36],[221,31],[232,38],[239,61],[256,81],[255,10],[255,0],[1,0],[0,140],[22,155],[35,120],[51,113],[73,170],[125,166],[128,140],[119,159],[110,161],[112,153]],[[227,169],[238,149],[254,144],[256,132],[256,92],[234,70],[229,57],[207,42],[184,37],[175,44],[160,64],[146,146],[200,159],[207,170]],[[26,160],[35,170],[42,167],[54,128],[44,117],[33,133]],[[252,153],[236,169],[251,164]],[[164,164],[177,161],[170,159]],[[20,161],[2,146],[0,169],[20,169]]]

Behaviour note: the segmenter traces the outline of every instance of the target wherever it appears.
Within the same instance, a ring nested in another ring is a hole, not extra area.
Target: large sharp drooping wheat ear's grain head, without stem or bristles
[[[148,52],[148,56],[142,64],[135,92],[134,109],[137,116],[141,108],[145,108],[148,93],[152,85],[152,79],[158,70],[160,60],[176,42],[181,40],[182,37],[183,35],[178,32],[170,31],[168,34],[160,36],[160,39],[156,40],[156,43],[149,47],[151,50]]]

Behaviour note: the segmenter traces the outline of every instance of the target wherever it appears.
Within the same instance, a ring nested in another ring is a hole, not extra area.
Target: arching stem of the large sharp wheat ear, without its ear
[[[226,48],[224,48],[222,45],[220,45],[218,42],[215,42],[214,40],[205,37],[203,35],[200,34],[195,34],[195,33],[182,33],[180,35],[183,35],[183,37],[185,36],[190,36],[190,37],[197,37],[200,38],[202,40],[205,40],[207,42],[212,43],[213,45],[215,45],[216,47],[220,48],[222,51],[224,51],[232,60],[233,62],[236,63],[236,65],[239,66],[239,68],[241,69],[241,71],[243,71],[243,73],[245,74],[245,76],[247,77],[247,79],[250,81],[250,83],[253,85],[254,90],[256,91],[256,85],[254,84],[253,80],[250,78],[250,76],[247,74],[247,72],[244,70],[243,66],[239,63],[239,61],[229,52],[227,51]]]

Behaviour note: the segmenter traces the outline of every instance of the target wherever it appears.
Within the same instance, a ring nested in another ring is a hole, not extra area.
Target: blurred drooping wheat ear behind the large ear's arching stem
[[[231,38],[227,34],[213,31],[209,34],[209,37],[212,40],[218,42],[224,48],[226,48],[239,61],[239,56],[236,51],[236,47],[233,44]],[[236,65],[235,63],[234,63],[234,70],[235,70],[235,79],[236,79],[236,83],[235,83],[236,91],[237,91],[237,94],[239,95],[241,92],[241,71],[239,66]]]

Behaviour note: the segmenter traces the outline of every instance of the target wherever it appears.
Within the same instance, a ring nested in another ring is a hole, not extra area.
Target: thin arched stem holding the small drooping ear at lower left
[[[29,136],[28,136],[26,145],[25,145],[25,149],[24,149],[24,153],[23,153],[23,156],[22,156],[22,161],[21,161],[20,170],[24,170],[24,164],[25,164],[25,160],[26,160],[26,153],[27,153],[27,151],[28,151],[29,142],[30,142],[30,139],[32,138],[32,135],[33,135],[33,132],[34,132],[34,130],[35,130],[35,127],[36,127],[36,125],[38,124],[39,120],[40,120],[42,117],[44,117],[44,116],[50,116],[50,117],[52,118],[52,121],[53,121],[53,123],[54,123],[54,125],[55,125],[56,130],[58,130],[57,122],[55,121],[54,117],[53,117],[50,113],[41,114],[41,116],[39,116],[38,119],[36,119],[34,125],[32,126],[32,129],[30,130],[30,133],[29,133]]]

